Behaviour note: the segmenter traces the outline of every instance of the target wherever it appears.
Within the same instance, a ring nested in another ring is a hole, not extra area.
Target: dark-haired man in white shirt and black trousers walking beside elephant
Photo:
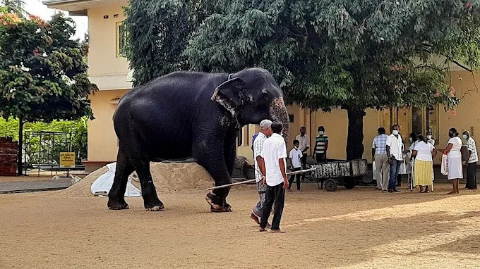
[[[282,123],[275,120],[272,123],[272,136],[263,143],[263,161],[260,163],[260,167],[262,174],[265,175],[263,183],[267,185],[267,195],[262,208],[260,227],[258,227],[260,232],[265,231],[265,227],[267,227],[268,217],[274,203],[275,212],[273,213],[270,232],[283,232],[280,230],[280,220],[282,219],[285,189],[288,188],[288,180],[286,170],[287,146],[281,134],[282,129]]]

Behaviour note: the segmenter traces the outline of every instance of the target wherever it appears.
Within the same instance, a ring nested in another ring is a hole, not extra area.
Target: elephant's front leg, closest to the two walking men
[[[204,144],[200,142],[200,145]],[[206,144],[214,145],[220,144],[224,146],[222,142],[208,142]],[[225,163],[224,150],[223,149],[204,149],[202,146],[193,146],[193,157],[196,159],[199,165],[202,165],[205,170],[210,173],[210,175],[215,180],[215,186],[222,186],[224,184],[230,184],[229,171],[227,169],[227,164]],[[208,204],[210,204],[210,211],[212,212],[230,212],[232,208],[227,204],[227,195],[229,193],[230,187],[225,187],[221,189],[214,189],[212,192],[209,192],[205,199]]]

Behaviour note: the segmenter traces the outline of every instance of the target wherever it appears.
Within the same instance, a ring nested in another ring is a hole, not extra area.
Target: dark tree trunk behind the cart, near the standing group
[[[347,160],[362,158],[364,155],[364,115],[365,111],[347,109],[348,135]]]

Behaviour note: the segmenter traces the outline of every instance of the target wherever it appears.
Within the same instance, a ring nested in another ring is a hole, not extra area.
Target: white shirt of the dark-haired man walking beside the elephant
[[[283,158],[284,166],[287,167],[285,158],[287,158],[287,146],[285,139],[280,134],[272,134],[263,142],[262,157],[265,162],[265,173],[267,185],[276,186],[283,182],[282,171],[278,160]]]

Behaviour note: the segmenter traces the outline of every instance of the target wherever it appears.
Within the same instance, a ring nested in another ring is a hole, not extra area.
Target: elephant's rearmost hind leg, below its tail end
[[[126,184],[128,182],[128,175],[132,172],[133,165],[131,165],[124,149],[120,146],[119,153],[116,156],[114,183],[108,194],[107,206],[109,209],[128,209],[128,204],[126,204],[124,195]]]

